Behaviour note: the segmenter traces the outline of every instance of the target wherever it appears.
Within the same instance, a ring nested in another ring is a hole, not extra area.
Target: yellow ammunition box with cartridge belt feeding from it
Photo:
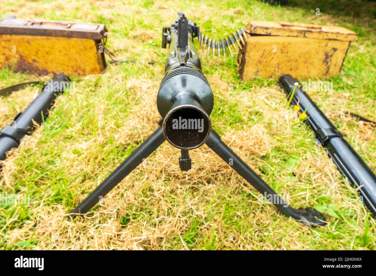
[[[329,78],[340,74],[356,34],[343,27],[249,21],[247,41],[238,55],[242,80],[290,74],[296,78]]]

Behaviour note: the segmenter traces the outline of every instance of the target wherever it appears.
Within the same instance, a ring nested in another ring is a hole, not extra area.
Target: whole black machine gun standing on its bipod
[[[266,184],[243,160],[240,159],[212,129],[209,115],[214,106],[214,97],[209,82],[202,72],[201,62],[195,51],[193,38],[199,27],[180,13],[179,18],[168,28],[163,28],[162,47],[170,44],[165,65],[165,75],[159,86],[157,107],[162,119],[160,127],[144,143],[136,148],[70,216],[88,212],[100,199],[112,190],[145,158],[165,140],[181,149],[180,169],[191,169],[189,150],[204,143],[220,158],[243,176],[253,187],[273,203],[285,216],[293,217],[308,225],[324,225],[323,216],[311,208],[295,209],[288,205]]]

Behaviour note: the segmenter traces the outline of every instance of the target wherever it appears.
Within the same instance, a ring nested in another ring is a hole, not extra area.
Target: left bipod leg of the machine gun
[[[103,182],[88,195],[70,214],[84,214],[100,202],[121,180],[134,170],[145,158],[155,151],[165,138],[159,127],[136,148]],[[74,216],[74,215],[72,215]]]

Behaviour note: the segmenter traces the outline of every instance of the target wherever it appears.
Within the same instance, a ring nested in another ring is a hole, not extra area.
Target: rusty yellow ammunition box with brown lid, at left
[[[0,19],[0,67],[47,75],[99,74],[106,68],[104,24]]]

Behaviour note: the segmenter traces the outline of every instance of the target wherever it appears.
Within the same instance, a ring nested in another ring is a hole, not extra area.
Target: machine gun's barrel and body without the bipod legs
[[[209,115],[214,97],[193,44],[191,27],[194,23],[189,21],[189,26],[184,26],[180,22],[187,24],[188,20],[181,17],[180,26],[176,23],[169,28],[170,53],[159,86],[157,107],[163,118],[166,140],[179,149],[195,149],[202,146],[211,133]]]

